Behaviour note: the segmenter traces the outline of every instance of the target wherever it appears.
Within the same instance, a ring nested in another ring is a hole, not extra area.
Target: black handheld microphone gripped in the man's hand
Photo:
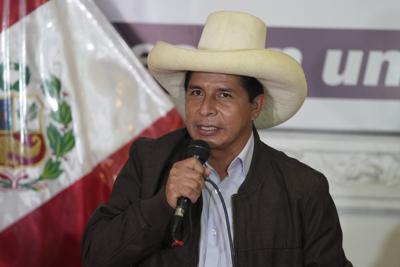
[[[210,155],[210,146],[203,140],[193,140],[186,149],[186,158],[194,157],[204,164]],[[176,202],[175,214],[171,222],[172,246],[182,246],[183,217],[189,208],[190,199],[179,197]]]

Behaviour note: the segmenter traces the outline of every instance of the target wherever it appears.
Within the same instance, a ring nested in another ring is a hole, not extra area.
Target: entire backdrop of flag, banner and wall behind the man
[[[216,10],[302,64],[304,106],[261,137],[327,176],[354,266],[400,266],[400,2],[2,0],[0,267],[80,265],[132,141],[183,125],[148,52],[195,47]]]

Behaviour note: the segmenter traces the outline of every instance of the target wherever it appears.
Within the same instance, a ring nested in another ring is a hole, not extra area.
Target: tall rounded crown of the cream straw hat
[[[205,50],[264,49],[267,27],[259,18],[242,12],[211,13],[198,48]]]

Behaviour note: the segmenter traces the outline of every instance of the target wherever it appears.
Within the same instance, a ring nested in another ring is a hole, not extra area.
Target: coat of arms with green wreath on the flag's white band
[[[0,71],[1,77],[17,78],[0,80],[0,188],[40,190],[63,173],[62,163],[75,146],[68,93],[53,75],[31,86],[28,66],[2,63]]]

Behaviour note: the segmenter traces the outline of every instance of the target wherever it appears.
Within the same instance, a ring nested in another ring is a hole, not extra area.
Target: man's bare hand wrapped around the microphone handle
[[[168,204],[175,208],[179,197],[187,197],[196,203],[204,188],[204,177],[210,175],[210,169],[195,158],[175,162],[172,166],[165,193]]]

